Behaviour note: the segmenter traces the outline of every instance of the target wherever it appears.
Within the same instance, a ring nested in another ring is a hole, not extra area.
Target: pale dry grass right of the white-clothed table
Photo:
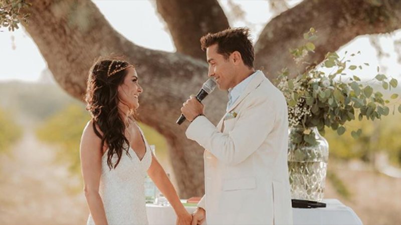
[[[393,178],[369,169],[335,164],[329,169],[345,183],[351,192],[345,199],[335,192],[333,185],[326,182],[325,198],[337,198],[351,207],[363,224],[400,224],[401,179]]]

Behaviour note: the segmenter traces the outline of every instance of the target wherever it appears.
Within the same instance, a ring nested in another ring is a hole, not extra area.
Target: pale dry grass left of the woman
[[[0,156],[0,224],[86,223],[79,177],[54,162],[55,149],[28,132],[11,152]]]

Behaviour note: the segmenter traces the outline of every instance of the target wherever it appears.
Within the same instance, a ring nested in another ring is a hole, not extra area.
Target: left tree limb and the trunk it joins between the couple
[[[181,197],[204,193],[203,148],[185,137],[187,122],[175,123],[182,102],[207,79],[207,64],[180,53],[137,46],[117,33],[89,0],[35,1],[26,30],[38,45],[56,81],[82,100],[88,71],[99,55],[125,55],[137,67],[144,88],[140,119],[169,145]],[[91,18],[88,20],[87,18]],[[150,37],[151,38],[151,37]],[[226,98],[215,91],[206,99],[207,115],[217,122]]]

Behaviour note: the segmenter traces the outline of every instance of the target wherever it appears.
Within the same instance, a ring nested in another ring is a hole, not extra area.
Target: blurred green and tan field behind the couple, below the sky
[[[85,105],[51,81],[0,83],[0,223],[82,224],[79,141]],[[401,115],[357,121],[359,139],[327,131],[330,159],[325,198],[338,198],[364,224],[401,220]],[[165,140],[140,124],[157,158],[172,175]]]

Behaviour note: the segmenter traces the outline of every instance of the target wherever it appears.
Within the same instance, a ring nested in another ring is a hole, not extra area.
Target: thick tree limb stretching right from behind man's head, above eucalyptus
[[[293,76],[306,65],[296,65],[289,53],[306,40],[303,33],[310,27],[317,30],[316,49],[306,61],[319,63],[327,52],[361,34],[386,33],[401,28],[401,1],[383,0],[304,0],[273,18],[261,32],[255,44],[256,67],[269,78],[287,67]],[[361,49],[362,50],[362,49]]]

